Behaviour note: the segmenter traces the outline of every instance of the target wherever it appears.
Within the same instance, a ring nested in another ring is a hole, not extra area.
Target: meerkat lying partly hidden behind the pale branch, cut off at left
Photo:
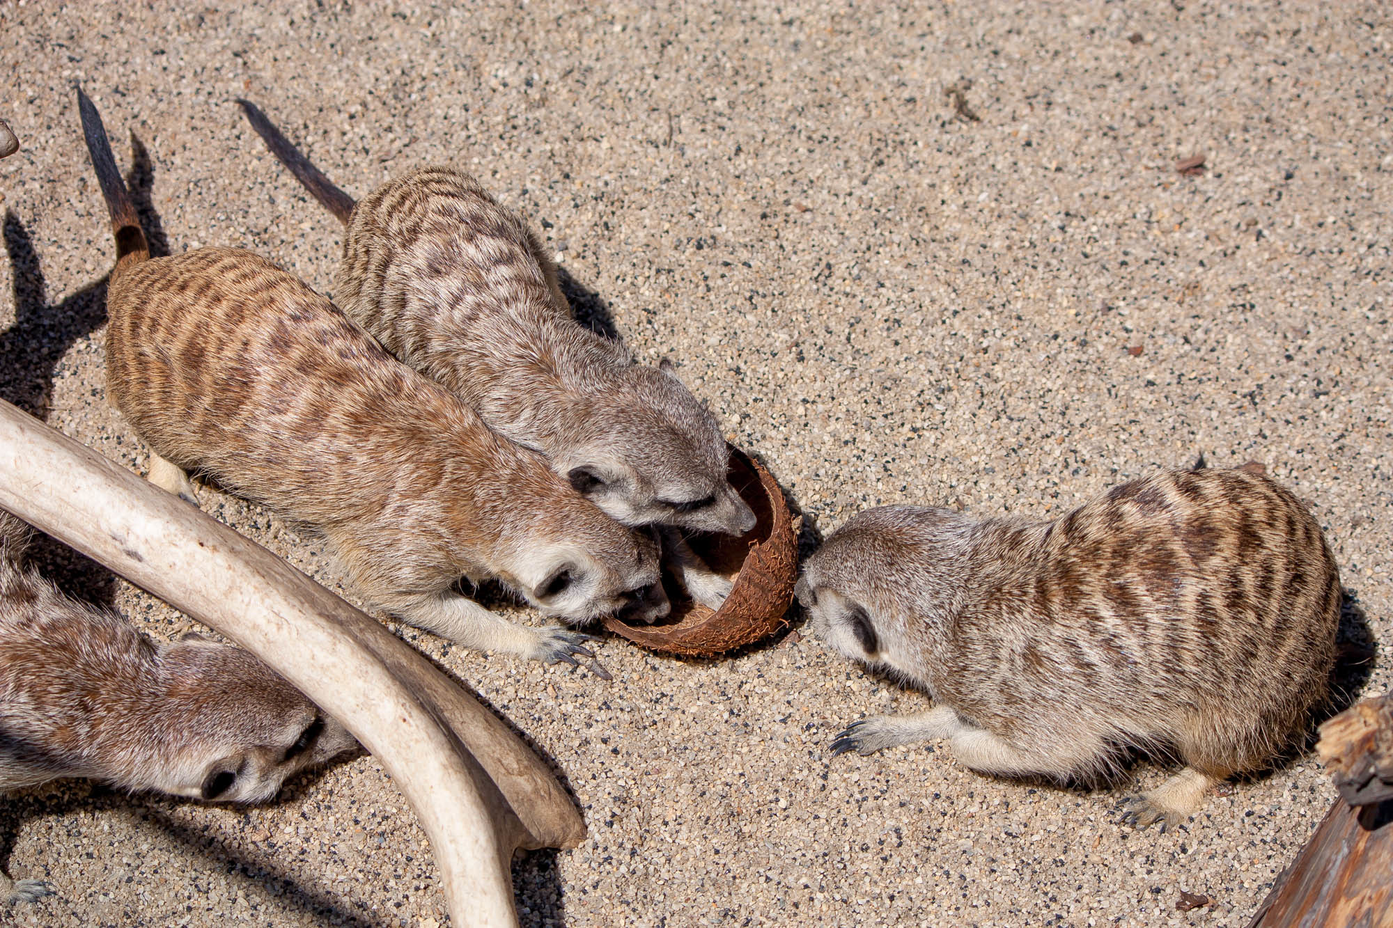
[[[357,747],[241,648],[157,645],[22,566],[29,527],[0,510],[0,791],[91,778],[219,803],[263,803],[287,778]],[[0,899],[43,881],[0,874]]]

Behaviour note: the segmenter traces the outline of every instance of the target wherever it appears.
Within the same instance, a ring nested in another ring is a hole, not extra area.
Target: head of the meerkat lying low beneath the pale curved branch
[[[287,778],[357,745],[347,729],[251,654],[189,635],[160,649],[160,718],[176,796],[263,803]]]

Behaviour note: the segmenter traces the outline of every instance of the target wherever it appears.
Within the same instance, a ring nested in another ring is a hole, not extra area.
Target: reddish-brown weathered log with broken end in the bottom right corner
[[[1248,928],[1393,928],[1393,694],[1321,726],[1340,789]]]

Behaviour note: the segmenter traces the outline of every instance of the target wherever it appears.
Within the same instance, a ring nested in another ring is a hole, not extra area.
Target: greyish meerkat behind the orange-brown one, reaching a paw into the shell
[[[731,581],[676,529],[742,535],[755,514],[727,479],[715,417],[670,365],[638,365],[577,323],[532,229],[469,174],[421,167],[355,203],[238,102],[347,230],[334,302],[620,523],[664,527],[678,580],[719,608]]]

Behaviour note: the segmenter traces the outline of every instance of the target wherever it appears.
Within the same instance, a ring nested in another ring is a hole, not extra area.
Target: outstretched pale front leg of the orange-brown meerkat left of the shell
[[[501,651],[546,663],[564,660],[571,666],[579,666],[577,656],[595,659],[581,644],[595,641],[593,635],[559,626],[520,626],[456,592],[426,596],[394,612],[414,626],[475,651]]]

